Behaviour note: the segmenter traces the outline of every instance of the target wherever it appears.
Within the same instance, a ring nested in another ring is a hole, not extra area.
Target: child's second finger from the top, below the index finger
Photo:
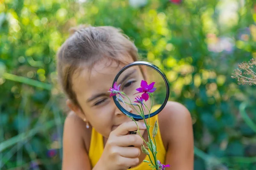
[[[127,147],[127,146],[137,146],[141,147],[143,144],[143,139],[139,135],[125,135],[125,136],[118,136],[115,139],[115,143],[117,146]]]

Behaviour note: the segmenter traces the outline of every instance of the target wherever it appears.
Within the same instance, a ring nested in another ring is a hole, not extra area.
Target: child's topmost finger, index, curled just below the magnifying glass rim
[[[137,125],[141,130],[146,129],[145,124],[142,122],[137,122]],[[130,131],[138,130],[137,125],[134,121],[125,122],[119,125],[115,130],[113,130],[113,133],[116,134],[117,136],[126,135]]]

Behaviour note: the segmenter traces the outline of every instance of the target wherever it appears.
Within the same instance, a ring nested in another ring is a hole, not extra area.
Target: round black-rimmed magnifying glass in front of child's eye
[[[169,99],[166,75],[150,62],[137,61],[123,67],[113,80],[112,88],[121,91],[113,96],[116,106],[136,121],[143,119],[140,113],[145,119],[160,113]]]

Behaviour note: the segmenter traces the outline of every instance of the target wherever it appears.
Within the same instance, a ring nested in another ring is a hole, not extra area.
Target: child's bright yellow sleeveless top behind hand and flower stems
[[[158,124],[158,115],[150,118],[150,134],[152,134],[152,130],[154,127],[154,122],[157,120]],[[159,125],[159,124],[158,124]],[[165,162],[166,158],[166,149],[163,145],[162,137],[160,134],[160,129],[158,128],[157,135],[155,136],[156,144],[157,144],[157,159],[161,162]],[[92,135],[91,135],[91,141],[90,141],[90,149],[89,149],[89,159],[92,165],[92,168],[96,165],[96,163],[99,161],[100,157],[102,156],[104,150],[103,146],[103,136],[98,133],[94,128],[92,128]],[[150,157],[153,158],[152,153],[150,153]],[[141,152],[141,154],[144,154]],[[145,155],[145,159],[147,161],[149,160],[148,155]],[[149,163],[141,162],[137,167],[133,167],[129,170],[152,170],[150,166],[148,166]]]

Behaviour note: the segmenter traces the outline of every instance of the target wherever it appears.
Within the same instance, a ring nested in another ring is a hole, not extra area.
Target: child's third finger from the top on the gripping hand
[[[125,158],[137,158],[140,156],[140,149],[137,147],[116,147],[120,156]]]

